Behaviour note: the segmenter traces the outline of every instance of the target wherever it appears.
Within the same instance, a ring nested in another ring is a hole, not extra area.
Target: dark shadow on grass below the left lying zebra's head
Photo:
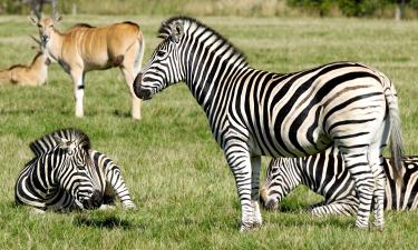
[[[106,228],[106,229],[143,229],[145,230],[145,226],[143,224],[134,224],[133,222],[120,219],[115,216],[106,217],[106,218],[89,218],[86,216],[78,216],[74,220],[74,224],[77,227],[94,227],[94,228]]]

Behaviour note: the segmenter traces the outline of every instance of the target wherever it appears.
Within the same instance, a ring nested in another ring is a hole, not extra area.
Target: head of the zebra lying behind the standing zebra
[[[263,187],[260,189],[261,203],[266,209],[275,210],[282,199],[299,183],[300,174],[295,159],[278,158],[271,160]]]

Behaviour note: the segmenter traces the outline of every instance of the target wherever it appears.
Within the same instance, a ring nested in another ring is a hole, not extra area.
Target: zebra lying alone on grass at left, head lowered
[[[120,168],[90,149],[77,129],[62,129],[30,143],[35,158],[20,171],[14,188],[17,204],[36,211],[72,211],[114,204],[134,208]]]

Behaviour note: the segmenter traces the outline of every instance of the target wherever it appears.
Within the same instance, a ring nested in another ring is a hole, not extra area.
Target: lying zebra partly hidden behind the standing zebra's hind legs
[[[404,158],[404,188],[395,182],[390,159],[385,159],[383,167],[387,174],[385,209],[417,209],[418,157]],[[262,203],[268,209],[276,209],[299,184],[324,197],[323,202],[310,207],[312,214],[356,214],[359,204],[356,186],[336,148],[304,158],[272,160],[261,189]]]

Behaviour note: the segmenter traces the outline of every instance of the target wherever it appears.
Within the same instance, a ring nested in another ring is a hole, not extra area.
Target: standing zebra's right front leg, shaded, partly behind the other
[[[261,217],[260,212],[260,204],[259,204],[259,199],[260,199],[260,168],[261,168],[261,157],[252,157],[251,158],[251,203],[253,207],[253,227],[260,227],[263,224],[263,219]]]

